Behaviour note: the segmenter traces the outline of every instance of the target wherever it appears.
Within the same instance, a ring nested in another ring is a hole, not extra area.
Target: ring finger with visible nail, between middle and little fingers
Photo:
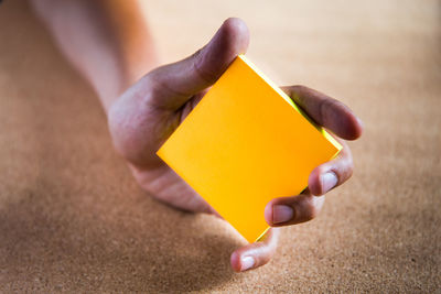
[[[271,227],[297,225],[315,218],[322,210],[324,196],[304,194],[272,199],[265,208],[265,219]]]

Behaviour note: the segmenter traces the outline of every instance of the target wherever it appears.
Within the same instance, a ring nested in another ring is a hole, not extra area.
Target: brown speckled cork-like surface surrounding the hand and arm
[[[270,3],[270,4],[269,4]],[[304,84],[365,121],[356,171],[322,215],[286,228],[243,274],[214,217],[171,209],[112,151],[90,87],[23,1],[0,6],[0,291],[439,292],[440,1],[146,1],[164,62],[227,17],[280,84]]]

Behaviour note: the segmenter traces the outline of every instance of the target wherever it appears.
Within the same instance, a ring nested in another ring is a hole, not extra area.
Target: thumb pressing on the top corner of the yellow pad
[[[227,19],[203,48],[190,57],[159,67],[138,83],[153,90],[149,100],[161,109],[176,110],[193,95],[213,85],[238,54],[247,51],[249,32],[240,19]]]

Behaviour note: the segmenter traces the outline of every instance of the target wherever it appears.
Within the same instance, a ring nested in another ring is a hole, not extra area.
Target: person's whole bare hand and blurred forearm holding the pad
[[[153,43],[136,1],[33,0],[31,4],[67,59],[94,86],[107,113],[115,149],[139,185],[179,209],[216,215],[155,151],[236,55],[246,53],[246,24],[228,19],[203,48],[183,61],[157,67]],[[267,205],[262,214],[272,228],[263,241],[233,252],[232,268],[238,272],[266,264],[277,249],[278,227],[316,217],[324,194],[353,173],[351,150],[344,140],[361,137],[362,121],[342,102],[316,90],[304,86],[282,89],[331,131],[343,150],[311,172],[303,194],[275,198]]]

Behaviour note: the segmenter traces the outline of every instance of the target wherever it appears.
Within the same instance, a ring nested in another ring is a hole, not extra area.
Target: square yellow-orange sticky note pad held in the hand
[[[157,154],[254,242],[268,229],[268,202],[300,194],[341,149],[239,55]]]

